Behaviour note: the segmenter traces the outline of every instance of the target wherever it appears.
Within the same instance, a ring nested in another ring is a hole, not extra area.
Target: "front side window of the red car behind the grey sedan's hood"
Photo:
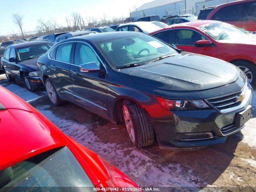
[[[175,42],[178,45],[194,45],[199,40],[205,40],[205,38],[196,31],[176,30]]]

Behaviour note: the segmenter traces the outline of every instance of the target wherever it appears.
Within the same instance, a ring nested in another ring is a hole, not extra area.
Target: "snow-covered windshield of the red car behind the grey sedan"
[[[246,38],[249,34],[240,28],[223,22],[214,22],[202,25],[200,26],[200,29],[217,41],[236,40],[238,37]]]

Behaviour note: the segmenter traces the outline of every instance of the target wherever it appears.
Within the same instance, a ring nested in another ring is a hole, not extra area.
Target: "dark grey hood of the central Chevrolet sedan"
[[[172,91],[216,88],[235,82],[240,75],[228,62],[187,52],[119,72],[125,81]]]

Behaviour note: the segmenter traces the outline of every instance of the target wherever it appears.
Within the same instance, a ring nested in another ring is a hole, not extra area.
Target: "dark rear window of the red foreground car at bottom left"
[[[93,187],[68,147],[44,152],[0,171],[0,191],[12,188],[14,191],[45,191],[46,188],[62,191],[54,187],[72,188],[72,191]]]

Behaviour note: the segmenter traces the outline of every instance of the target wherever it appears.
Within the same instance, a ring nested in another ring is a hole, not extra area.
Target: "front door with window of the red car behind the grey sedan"
[[[192,29],[175,29],[174,30],[174,42],[175,45],[187,52],[203,54],[212,57],[218,57],[218,51],[216,46],[209,47],[196,47],[195,42],[198,40],[207,39],[205,36],[199,32]]]

